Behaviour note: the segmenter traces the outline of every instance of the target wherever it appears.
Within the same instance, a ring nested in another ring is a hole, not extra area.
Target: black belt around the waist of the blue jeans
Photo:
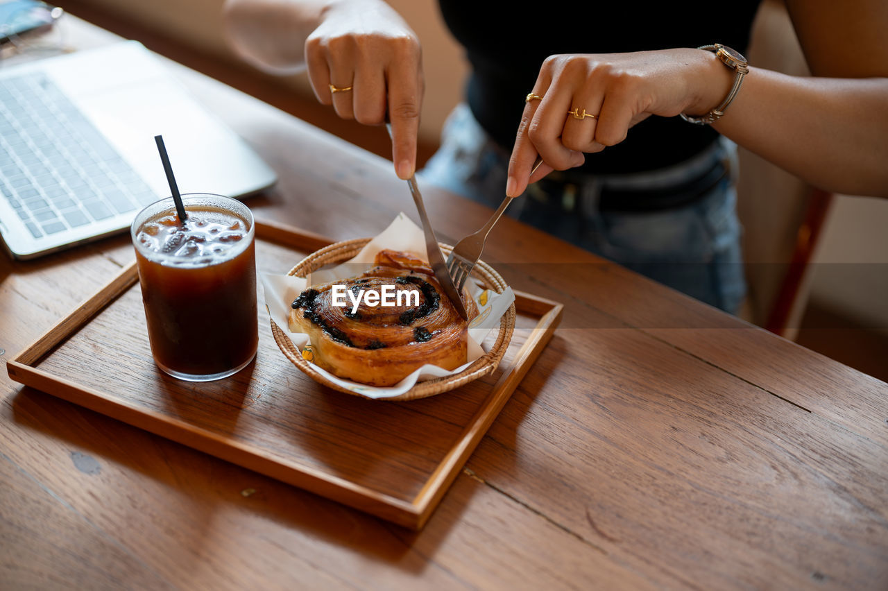
[[[685,207],[700,200],[706,193],[714,189],[727,176],[727,172],[725,163],[717,161],[699,177],[692,178],[680,185],[670,185],[642,191],[637,189],[615,189],[604,186],[599,193],[599,211],[637,213]],[[543,192],[550,195],[552,194],[549,191],[550,186],[554,191],[563,192],[566,183],[572,184],[567,178],[563,180],[552,178],[550,180],[549,177],[546,177],[539,182]],[[577,183],[577,185],[579,184]]]

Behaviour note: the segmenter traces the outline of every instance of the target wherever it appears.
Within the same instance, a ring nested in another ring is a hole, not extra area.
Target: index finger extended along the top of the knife
[[[418,60],[392,64],[386,76],[389,120],[392,122],[392,162],[400,178],[416,172],[416,137],[422,103],[423,74]]]

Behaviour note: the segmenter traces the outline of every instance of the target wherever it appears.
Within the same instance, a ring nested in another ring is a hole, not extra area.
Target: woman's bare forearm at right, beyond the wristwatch
[[[797,77],[750,68],[714,127],[812,185],[888,197],[888,78]]]

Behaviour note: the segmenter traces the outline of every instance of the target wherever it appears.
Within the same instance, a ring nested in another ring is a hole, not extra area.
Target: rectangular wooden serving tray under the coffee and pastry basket
[[[256,230],[258,272],[286,273],[330,243],[268,223]],[[250,366],[218,382],[175,380],[151,357],[138,282],[131,264],[10,360],[10,377],[416,530],[551,339],[562,310],[516,292],[515,332],[493,374],[432,398],[386,402],[329,390],[300,373],[261,311]]]

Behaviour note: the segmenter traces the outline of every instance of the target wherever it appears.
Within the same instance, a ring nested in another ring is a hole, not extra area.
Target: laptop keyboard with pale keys
[[[0,84],[0,193],[35,238],[158,199],[40,72]]]

